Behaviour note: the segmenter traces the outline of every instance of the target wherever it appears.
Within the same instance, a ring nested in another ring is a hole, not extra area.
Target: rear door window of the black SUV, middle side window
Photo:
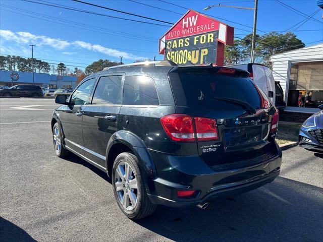
[[[100,77],[92,104],[121,104],[122,76]]]

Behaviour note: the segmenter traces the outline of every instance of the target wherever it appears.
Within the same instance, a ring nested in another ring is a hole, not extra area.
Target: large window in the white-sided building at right
[[[323,62],[292,63],[288,106],[317,108],[323,104]]]

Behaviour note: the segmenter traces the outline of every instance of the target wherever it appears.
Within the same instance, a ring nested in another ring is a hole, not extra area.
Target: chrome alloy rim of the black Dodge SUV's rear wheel
[[[136,207],[139,191],[136,174],[131,166],[122,161],[115,171],[115,186],[122,206],[131,211]]]

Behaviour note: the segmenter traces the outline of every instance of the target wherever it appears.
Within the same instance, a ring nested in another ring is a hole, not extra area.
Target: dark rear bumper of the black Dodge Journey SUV
[[[191,165],[189,159],[185,163],[185,166]],[[276,157],[260,164],[220,172],[213,170],[205,172],[206,169],[204,172],[197,172],[201,170],[198,168],[199,160],[196,159],[194,163],[196,163],[195,172],[192,174],[185,172],[188,170],[181,167],[179,162],[173,162],[176,164],[173,170],[176,170],[177,182],[170,181],[175,176],[170,176],[168,180],[160,177],[153,179],[153,189],[148,194],[151,202],[170,207],[186,207],[259,188],[279,175],[282,152],[278,148]],[[177,191],[179,190],[196,190],[197,192],[193,198],[178,198]]]

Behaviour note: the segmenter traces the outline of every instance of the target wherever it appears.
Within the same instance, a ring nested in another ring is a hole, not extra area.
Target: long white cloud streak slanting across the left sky
[[[146,57],[137,56],[125,51],[120,51],[113,48],[107,48],[99,44],[91,44],[80,40],[69,42],[66,40],[50,38],[43,35],[34,35],[28,32],[15,33],[10,30],[0,30],[0,39],[4,39],[5,41],[24,43],[24,44],[33,43],[37,46],[50,46],[54,49],[59,49],[59,50],[66,49],[67,47],[69,47],[70,49],[83,48],[83,49],[99,52],[99,53],[106,54],[112,57],[117,57],[117,58],[119,58],[119,56],[124,56],[125,59],[145,59],[146,58]],[[65,51],[62,53],[71,55],[71,54],[75,54],[76,52]]]

